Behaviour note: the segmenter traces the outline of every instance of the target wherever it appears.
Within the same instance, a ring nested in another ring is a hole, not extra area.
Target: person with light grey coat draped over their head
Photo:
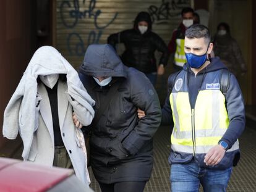
[[[50,93],[54,88],[56,93],[52,99]],[[72,114],[74,112],[82,125],[90,125],[94,104],[69,62],[53,47],[43,46],[33,55],[7,104],[3,135],[14,140],[20,133],[24,161],[53,166],[54,152],[59,149],[56,148],[56,133],[59,133],[58,142],[66,149],[75,174],[88,185],[83,134],[75,127]]]

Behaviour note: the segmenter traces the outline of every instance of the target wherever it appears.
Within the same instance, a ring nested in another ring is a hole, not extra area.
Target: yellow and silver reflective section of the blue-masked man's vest
[[[189,93],[171,93],[169,99],[173,110],[174,128],[171,148],[174,151],[201,154],[207,153],[210,148],[218,144],[229,125],[225,98],[220,90],[199,91],[194,109],[194,122],[192,122]],[[239,144],[236,141],[228,151],[238,148]]]

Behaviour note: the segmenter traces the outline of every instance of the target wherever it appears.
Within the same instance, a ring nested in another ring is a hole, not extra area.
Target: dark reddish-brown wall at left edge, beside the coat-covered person
[[[0,1],[0,125],[7,102],[32,56],[32,1]],[[0,146],[2,138],[0,126]]]

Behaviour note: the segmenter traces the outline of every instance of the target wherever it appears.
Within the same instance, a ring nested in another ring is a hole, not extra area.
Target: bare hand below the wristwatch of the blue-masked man
[[[207,152],[203,162],[210,166],[217,165],[223,159],[225,152],[226,150],[220,144],[217,144]]]

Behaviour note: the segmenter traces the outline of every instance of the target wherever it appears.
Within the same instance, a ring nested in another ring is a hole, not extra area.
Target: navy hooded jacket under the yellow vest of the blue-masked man
[[[197,73],[197,75],[192,72],[188,64],[184,65],[182,70],[185,70],[189,77],[187,85],[189,87],[189,100],[192,109],[194,108],[195,101],[197,100],[198,90],[200,89],[203,81],[205,81],[205,74],[216,70],[220,71],[221,73],[221,70],[223,69],[227,68],[218,57],[211,59],[211,63],[205,67],[205,69]],[[168,78],[168,95],[162,109],[162,124],[171,124],[173,121],[170,118],[172,117],[172,111],[169,102],[169,95],[173,89],[174,76],[176,76],[176,73],[170,75]],[[228,111],[229,127],[221,138],[221,141],[226,141],[226,143],[228,143],[228,149],[231,148],[236,140],[242,135],[245,128],[244,101],[241,98],[242,93],[236,77],[230,73],[229,86],[226,94],[226,109]],[[237,154],[236,157],[239,158],[239,154]],[[180,160],[182,163],[182,159]],[[238,160],[239,159],[234,159],[234,165],[236,165]]]

